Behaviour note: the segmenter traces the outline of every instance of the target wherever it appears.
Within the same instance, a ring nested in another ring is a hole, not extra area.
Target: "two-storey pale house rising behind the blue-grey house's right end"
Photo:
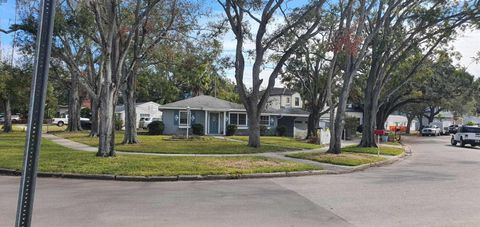
[[[300,93],[294,92],[288,88],[274,87],[270,91],[270,97],[267,101],[267,109],[281,108],[303,108],[303,101]]]

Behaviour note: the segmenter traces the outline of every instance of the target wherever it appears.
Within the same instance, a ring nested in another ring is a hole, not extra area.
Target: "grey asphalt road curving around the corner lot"
[[[308,177],[138,183],[39,178],[33,226],[480,226],[480,149],[407,139],[413,156]],[[0,176],[0,226],[18,177]]]

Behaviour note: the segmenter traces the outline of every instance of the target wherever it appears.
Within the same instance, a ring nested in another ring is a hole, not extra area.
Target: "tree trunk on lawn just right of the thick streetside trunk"
[[[137,110],[135,98],[135,83],[136,78],[134,74],[128,77],[126,88],[123,91],[123,100],[125,105],[125,135],[123,137],[123,144],[138,143],[137,136]]]

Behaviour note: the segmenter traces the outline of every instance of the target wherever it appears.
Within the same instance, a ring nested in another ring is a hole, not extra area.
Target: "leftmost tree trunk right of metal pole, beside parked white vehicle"
[[[82,130],[80,124],[80,109],[82,103],[79,95],[79,81],[78,74],[72,73],[70,80],[70,92],[68,95],[68,127],[67,131],[77,132]]]

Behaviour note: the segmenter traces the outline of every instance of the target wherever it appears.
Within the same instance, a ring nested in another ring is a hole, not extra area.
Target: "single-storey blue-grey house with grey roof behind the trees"
[[[237,125],[238,135],[248,133],[248,117],[242,104],[202,95],[168,103],[159,109],[163,111],[165,134],[185,134],[188,116],[190,124],[204,126],[205,135],[225,135],[229,124]],[[267,127],[268,134],[275,134],[277,126],[283,125],[287,128],[286,136],[299,136],[306,131],[307,118],[308,112],[300,108],[269,106],[261,113],[260,124]]]

